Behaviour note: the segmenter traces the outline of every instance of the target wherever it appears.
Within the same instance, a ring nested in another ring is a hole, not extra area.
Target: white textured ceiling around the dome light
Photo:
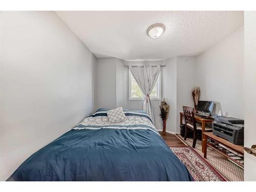
[[[56,11],[97,57],[158,60],[197,55],[244,25],[243,11]],[[162,23],[159,38],[146,30]]]

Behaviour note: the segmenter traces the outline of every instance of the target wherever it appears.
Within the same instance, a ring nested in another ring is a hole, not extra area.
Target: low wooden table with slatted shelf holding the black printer
[[[230,159],[231,161],[234,161],[234,162],[238,163],[239,165],[241,165],[242,167],[244,167],[244,164],[242,163],[242,161],[244,160],[244,157],[243,157],[244,156],[244,146],[243,145],[235,145],[233,143],[230,143],[229,141],[222,139],[222,138],[212,134],[211,132],[203,133],[203,137],[204,137],[204,142],[202,143],[202,145],[204,145],[204,151],[203,151],[204,158],[206,158],[207,146],[209,146],[209,147],[213,148],[215,151],[219,152],[220,154],[222,154],[225,157],[227,157],[228,159]],[[236,152],[236,153],[240,154],[241,156],[238,156],[238,155],[226,150],[225,148],[219,146],[218,144],[216,145],[215,143],[207,143],[208,138],[229,148],[231,151]],[[236,158],[232,158],[232,157],[236,157]]]

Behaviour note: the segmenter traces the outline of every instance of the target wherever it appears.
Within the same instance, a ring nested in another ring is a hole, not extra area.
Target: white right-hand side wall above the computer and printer
[[[196,57],[200,99],[217,102],[215,113],[244,119],[243,53],[242,27]]]

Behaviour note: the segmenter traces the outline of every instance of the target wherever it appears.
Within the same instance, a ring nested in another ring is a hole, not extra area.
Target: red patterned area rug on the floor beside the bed
[[[192,147],[170,147],[187,167],[195,181],[227,181],[213,166],[205,161]]]

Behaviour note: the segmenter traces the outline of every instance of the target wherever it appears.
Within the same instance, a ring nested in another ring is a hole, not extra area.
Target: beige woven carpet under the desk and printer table
[[[179,134],[177,136],[182,139]],[[192,146],[193,139],[187,138],[185,141],[188,145]],[[197,140],[196,148],[195,150],[203,156],[202,153],[202,142],[200,140]],[[231,181],[244,181],[244,169],[240,168],[236,164],[230,162],[226,157],[221,155],[220,153],[216,151],[210,151],[207,150],[207,160],[214,165],[216,168],[220,170],[226,177],[228,177]]]

